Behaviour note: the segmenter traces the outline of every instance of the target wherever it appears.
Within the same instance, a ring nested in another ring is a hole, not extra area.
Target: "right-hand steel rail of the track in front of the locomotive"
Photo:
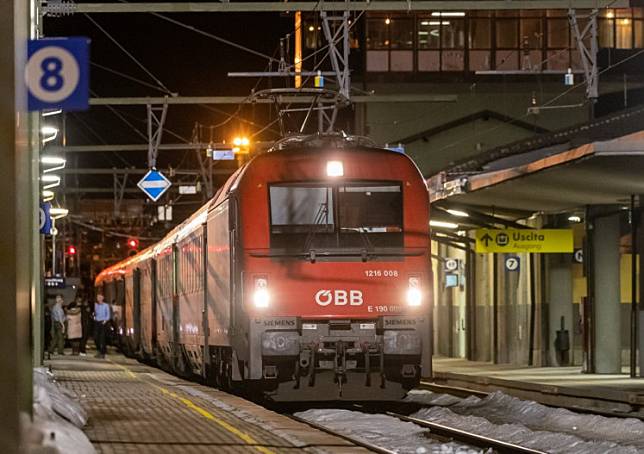
[[[447,437],[453,440],[465,443],[479,448],[492,448],[495,452],[501,454],[546,454],[544,451],[526,448],[525,446],[515,445],[507,441],[497,440],[484,435],[475,434],[462,429],[456,429],[444,424],[425,421],[423,419],[412,418],[410,416],[399,415],[398,413],[387,412],[389,416],[400,419],[401,421],[411,422],[430,430],[432,434],[440,437]]]

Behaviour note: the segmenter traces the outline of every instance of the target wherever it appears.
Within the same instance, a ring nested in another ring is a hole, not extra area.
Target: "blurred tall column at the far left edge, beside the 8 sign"
[[[27,1],[2,2],[0,15],[0,446],[19,452],[19,413],[31,413],[30,262],[34,226],[24,67]]]

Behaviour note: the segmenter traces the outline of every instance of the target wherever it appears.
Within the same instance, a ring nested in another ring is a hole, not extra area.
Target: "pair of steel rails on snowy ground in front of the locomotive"
[[[424,421],[422,419],[412,418],[409,416],[401,415],[399,413],[394,413],[390,411],[385,412],[384,414],[386,414],[387,416],[391,416],[393,418],[398,418],[399,420],[404,422],[410,422],[410,423],[416,424],[418,426],[421,426],[427,429],[426,435],[429,438],[432,438],[439,443],[458,442],[463,445],[480,448],[484,452],[496,452],[500,454],[545,454],[544,451],[526,448],[524,446],[519,446],[502,440],[497,440],[494,438],[475,434],[465,430],[457,429],[455,427],[446,426],[444,424]],[[307,424],[310,427],[313,427],[315,429],[321,430],[328,434],[350,441],[351,443],[357,446],[363,447],[371,452],[376,452],[380,454],[394,454],[396,452],[391,449],[383,448],[381,446],[375,445],[361,438],[349,436],[345,433],[330,429],[329,427],[306,420],[304,418],[300,418],[295,415],[289,415],[289,416],[298,422]]]

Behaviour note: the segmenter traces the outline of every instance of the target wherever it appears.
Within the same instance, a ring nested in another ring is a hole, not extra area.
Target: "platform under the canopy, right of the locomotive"
[[[584,374],[580,366],[517,367],[435,357],[434,382],[484,392],[503,391],[546,405],[644,417],[644,379]]]

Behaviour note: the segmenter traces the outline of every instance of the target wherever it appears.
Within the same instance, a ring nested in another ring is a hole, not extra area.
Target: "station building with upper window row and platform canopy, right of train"
[[[591,14],[575,11],[580,31]],[[596,98],[568,15],[366,12],[352,29],[354,88],[456,95],[363,104],[354,124],[402,144],[430,184],[438,358],[591,373],[636,360],[644,9],[599,10]],[[314,20],[304,33],[316,49]],[[574,250],[479,254],[481,228],[571,229]]]

